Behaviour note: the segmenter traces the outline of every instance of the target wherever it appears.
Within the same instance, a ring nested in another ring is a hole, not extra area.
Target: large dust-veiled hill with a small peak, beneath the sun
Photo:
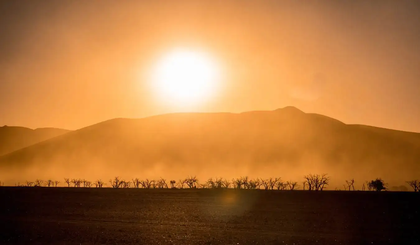
[[[172,113],[87,126],[0,157],[0,170],[8,175],[3,179],[249,175],[300,181],[307,173],[329,173],[343,183],[382,177],[399,184],[420,177],[420,134],[347,125],[294,107]]]

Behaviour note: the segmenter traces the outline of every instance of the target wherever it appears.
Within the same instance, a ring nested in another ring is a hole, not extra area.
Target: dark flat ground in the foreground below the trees
[[[420,244],[403,192],[0,188],[1,244]]]

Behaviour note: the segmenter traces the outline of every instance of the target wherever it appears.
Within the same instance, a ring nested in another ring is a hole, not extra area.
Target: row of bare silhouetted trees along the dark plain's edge
[[[304,175],[304,181],[302,182],[303,190],[309,191],[322,191],[326,186],[329,185],[331,178],[327,174],[308,174]],[[185,179],[180,179],[179,181],[171,180],[167,183],[166,179],[160,178],[158,180],[140,180],[139,178],[133,178],[126,181],[120,177],[115,177],[108,181],[112,188],[235,188],[235,189],[265,189],[265,190],[296,190],[301,185],[296,181],[283,181],[280,177],[271,177],[267,179],[263,178],[254,178],[251,179],[248,176],[233,178],[232,180],[223,179],[223,178],[209,178],[204,183],[200,183],[197,177],[187,177]],[[354,188],[354,179],[346,180],[344,184],[344,190],[355,191]],[[53,181],[48,179],[43,181],[40,179],[32,181],[26,181],[25,184],[17,186],[46,186],[46,187],[57,187],[60,181]],[[85,179],[70,179],[64,178],[64,183],[68,187],[92,187],[95,185],[97,188],[106,186],[107,183],[101,179],[96,180],[95,182],[87,181]],[[420,191],[420,181],[413,180],[407,181],[409,186],[413,188],[415,192]],[[0,186],[2,182],[0,181]],[[3,183],[4,184],[4,183]],[[169,186],[168,186],[169,184]],[[387,191],[388,184],[385,183],[381,178],[376,178],[375,180],[365,181],[362,186],[362,191],[365,191],[367,188],[368,191]]]

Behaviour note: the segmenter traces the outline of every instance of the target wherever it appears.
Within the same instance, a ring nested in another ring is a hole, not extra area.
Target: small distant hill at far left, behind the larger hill
[[[0,127],[0,156],[67,132],[70,132],[70,130],[55,128],[29,129],[17,126]]]

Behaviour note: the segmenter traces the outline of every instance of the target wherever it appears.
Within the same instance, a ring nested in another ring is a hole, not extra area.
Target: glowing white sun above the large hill
[[[151,82],[160,100],[191,106],[214,95],[219,80],[220,71],[208,54],[176,50],[158,60]]]

